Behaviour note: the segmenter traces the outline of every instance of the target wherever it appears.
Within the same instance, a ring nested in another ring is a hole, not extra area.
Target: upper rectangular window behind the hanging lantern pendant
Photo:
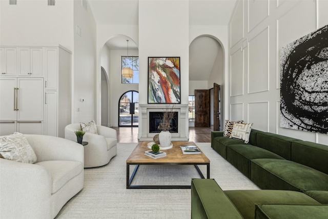
[[[122,84],[138,84],[138,83],[139,83],[139,57],[122,56]]]

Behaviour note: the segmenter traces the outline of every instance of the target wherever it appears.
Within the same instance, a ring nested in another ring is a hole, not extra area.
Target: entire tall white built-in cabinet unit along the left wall
[[[71,123],[72,53],[57,47],[0,47],[0,135],[64,137]]]

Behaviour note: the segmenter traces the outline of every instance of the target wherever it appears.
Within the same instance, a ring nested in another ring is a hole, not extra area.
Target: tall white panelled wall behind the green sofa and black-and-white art
[[[228,118],[253,123],[262,131],[326,144],[327,135],[279,127],[279,52],[326,25],[327,10],[322,0],[237,3],[229,26]]]

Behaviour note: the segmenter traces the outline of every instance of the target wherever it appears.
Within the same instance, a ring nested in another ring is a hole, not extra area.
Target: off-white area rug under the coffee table
[[[196,144],[210,159],[210,176],[223,190],[259,189],[216,153],[210,143]],[[190,189],[126,189],[126,160],[136,145],[118,143],[117,155],[108,165],[85,169],[83,190],[56,218],[190,218]],[[199,167],[206,177],[206,166]],[[139,167],[133,184],[190,185],[192,177],[199,178],[193,166],[147,165]]]

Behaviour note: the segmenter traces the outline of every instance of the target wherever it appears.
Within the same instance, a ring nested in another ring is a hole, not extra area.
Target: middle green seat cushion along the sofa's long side
[[[236,167],[242,174],[251,177],[251,161],[255,158],[274,158],[282,159],[283,157],[259,148],[253,145],[228,145],[227,161]]]

